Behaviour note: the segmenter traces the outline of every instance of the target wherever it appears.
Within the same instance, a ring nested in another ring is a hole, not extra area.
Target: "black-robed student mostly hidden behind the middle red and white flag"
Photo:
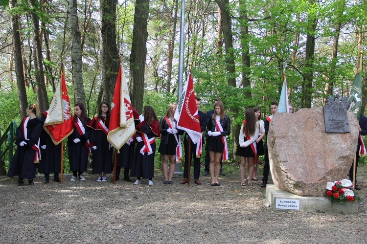
[[[136,111],[135,109],[133,109],[133,117],[135,126],[137,126],[140,121],[138,111]],[[133,161],[134,147],[135,142],[132,136],[132,138],[120,148],[120,153],[117,154],[116,159],[116,180],[120,179],[121,168],[124,168],[124,180],[129,182],[134,181],[129,177],[131,163]]]

